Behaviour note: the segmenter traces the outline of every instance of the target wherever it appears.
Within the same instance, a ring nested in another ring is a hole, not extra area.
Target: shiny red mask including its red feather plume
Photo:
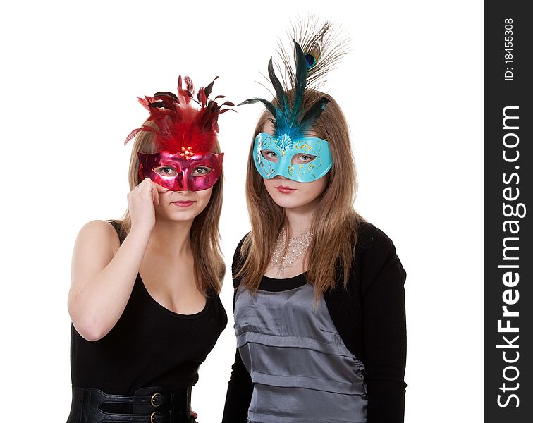
[[[184,80],[185,87],[181,76],[178,78],[177,96],[157,92],[154,97],[139,99],[150,113],[147,121],[153,122],[154,127],[142,125],[133,130],[124,144],[141,131],[153,133],[159,151],[137,153],[140,180],[150,178],[172,191],[200,191],[212,187],[221,176],[223,153],[214,153],[218,117],[230,110],[222,109],[223,106],[233,106],[233,103],[217,104],[216,99],[223,98],[222,95],[209,100],[214,80],[200,88],[195,100],[192,81],[188,76]]]

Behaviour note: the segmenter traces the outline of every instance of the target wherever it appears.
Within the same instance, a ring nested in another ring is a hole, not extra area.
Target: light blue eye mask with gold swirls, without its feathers
[[[297,182],[312,182],[331,169],[329,143],[316,137],[291,139],[259,133],[254,143],[255,168],[263,178],[281,175]]]

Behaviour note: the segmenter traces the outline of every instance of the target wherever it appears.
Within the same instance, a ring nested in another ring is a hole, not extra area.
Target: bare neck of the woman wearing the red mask
[[[178,222],[156,220],[147,249],[169,259],[190,254],[191,226],[192,220]]]

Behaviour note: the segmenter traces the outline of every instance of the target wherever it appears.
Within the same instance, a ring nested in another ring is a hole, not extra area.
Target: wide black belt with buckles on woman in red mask
[[[73,386],[67,423],[194,423],[190,391],[190,386],[180,391],[149,386],[137,389],[134,395],[110,395]]]

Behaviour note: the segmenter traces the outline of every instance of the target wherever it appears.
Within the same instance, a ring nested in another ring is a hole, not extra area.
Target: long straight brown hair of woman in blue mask
[[[294,92],[288,91],[289,101]],[[319,197],[315,209],[312,231],[313,238],[305,255],[307,282],[314,286],[314,298],[336,286],[336,271],[342,269],[344,286],[348,283],[353,252],[357,243],[357,223],[364,219],[355,212],[353,202],[357,192],[357,176],[350,147],[350,134],[344,114],[337,102],[318,90],[306,93],[304,108],[319,97],[330,100],[326,109],[312,128],[312,135],[327,140],[331,150],[331,171],[326,178],[326,188]],[[243,261],[236,277],[242,278],[240,285],[255,292],[259,288],[264,272],[269,265],[278,231],[286,225],[283,207],[271,199],[264,187],[262,176],[253,162],[255,136],[272,118],[265,111],[259,118],[252,137],[246,174],[246,200],[252,232],[241,247]],[[267,252],[267,254],[265,254]]]

